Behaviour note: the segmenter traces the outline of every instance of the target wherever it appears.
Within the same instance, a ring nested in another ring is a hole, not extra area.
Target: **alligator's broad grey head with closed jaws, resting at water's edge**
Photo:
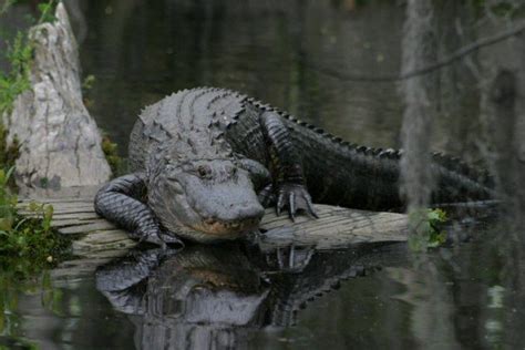
[[[164,164],[150,178],[148,204],[164,227],[203,243],[235,239],[264,215],[250,174],[230,159]]]

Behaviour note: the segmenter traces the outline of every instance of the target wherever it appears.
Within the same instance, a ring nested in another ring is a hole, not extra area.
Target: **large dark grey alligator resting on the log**
[[[183,245],[241,237],[264,207],[317,216],[312,203],[402,210],[402,151],[351,144],[239,92],[184,90],[145,107],[130,138],[132,174],[95,196],[133,238]],[[486,172],[435,153],[432,203],[494,196]]]

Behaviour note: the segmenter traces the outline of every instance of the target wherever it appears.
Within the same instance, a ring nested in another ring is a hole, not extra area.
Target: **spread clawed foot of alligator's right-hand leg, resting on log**
[[[288,213],[292,222],[295,222],[296,213],[298,210],[307,212],[315,218],[319,218],[316,210],[313,209],[310,194],[302,185],[289,183],[280,185],[279,194],[277,196],[277,215],[280,215],[285,206],[288,207]]]

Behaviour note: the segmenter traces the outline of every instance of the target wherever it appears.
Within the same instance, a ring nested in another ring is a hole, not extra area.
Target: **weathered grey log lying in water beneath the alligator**
[[[136,246],[124,230],[116,228],[94,213],[93,197],[97,187],[76,191],[32,193],[19,203],[22,215],[37,216],[29,209],[31,202],[51,204],[54,208],[52,226],[64,235],[73,235],[73,254],[83,258],[121,256],[123,250]],[[82,194],[82,195],[80,195]],[[277,216],[267,209],[260,224],[260,233],[246,239],[261,251],[275,251],[284,247],[308,247],[317,250],[343,248],[363,243],[405,241],[406,215],[377,213],[316,205],[318,219],[297,216],[291,222],[287,215]]]

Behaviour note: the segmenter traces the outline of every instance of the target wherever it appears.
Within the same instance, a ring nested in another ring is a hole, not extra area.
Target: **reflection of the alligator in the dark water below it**
[[[250,329],[292,325],[309,300],[341,280],[400,264],[405,253],[399,244],[271,254],[241,244],[154,249],[100,268],[96,284],[130,315],[137,348],[236,348]]]

